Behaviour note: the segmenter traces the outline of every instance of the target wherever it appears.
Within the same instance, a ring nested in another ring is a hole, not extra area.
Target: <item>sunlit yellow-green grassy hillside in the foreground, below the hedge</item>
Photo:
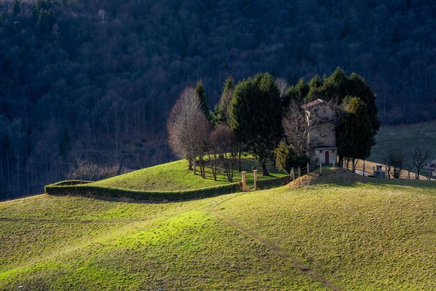
[[[435,182],[367,179],[330,171],[180,203],[3,202],[0,289],[435,289]]]

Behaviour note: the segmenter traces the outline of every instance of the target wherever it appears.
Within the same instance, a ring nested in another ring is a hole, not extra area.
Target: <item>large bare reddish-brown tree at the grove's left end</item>
[[[203,155],[208,149],[208,136],[211,129],[208,119],[200,107],[200,100],[194,88],[185,88],[179,100],[169,113],[169,146],[180,158],[189,161],[189,169],[196,173],[196,157],[203,167]],[[201,168],[203,175],[203,168]]]

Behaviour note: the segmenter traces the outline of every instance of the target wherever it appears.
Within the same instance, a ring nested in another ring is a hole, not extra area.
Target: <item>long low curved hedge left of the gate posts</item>
[[[63,181],[45,186],[47,194],[93,194],[113,197],[127,197],[143,200],[187,200],[193,198],[205,198],[222,194],[231,194],[242,190],[242,182],[224,184],[217,187],[209,187],[194,190],[180,191],[141,191],[131,189],[109,188],[94,185],[80,184],[68,185]],[[76,181],[77,182],[77,181]]]

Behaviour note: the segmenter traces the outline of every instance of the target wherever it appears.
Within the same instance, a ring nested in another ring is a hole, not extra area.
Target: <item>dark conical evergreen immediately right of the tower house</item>
[[[358,97],[347,98],[345,116],[338,134],[338,153],[352,161],[355,171],[355,160],[366,159],[371,155],[371,147],[375,144],[371,118],[365,102]]]

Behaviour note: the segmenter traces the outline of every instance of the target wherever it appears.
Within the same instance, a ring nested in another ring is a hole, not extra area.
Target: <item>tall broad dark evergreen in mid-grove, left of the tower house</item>
[[[282,136],[281,112],[279,89],[270,74],[256,74],[235,87],[230,125],[258,158],[263,175],[268,175],[265,163]]]

